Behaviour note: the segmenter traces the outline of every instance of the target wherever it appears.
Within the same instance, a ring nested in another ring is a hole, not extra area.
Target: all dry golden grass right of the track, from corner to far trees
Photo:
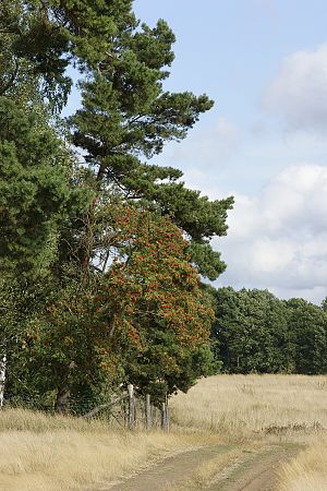
[[[282,467],[279,491],[327,490],[327,376],[211,376],[171,406],[180,428],[230,442],[304,444]]]

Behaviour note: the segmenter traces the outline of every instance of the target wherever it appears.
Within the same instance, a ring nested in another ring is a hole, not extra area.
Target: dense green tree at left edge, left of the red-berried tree
[[[73,164],[45,109],[0,97],[0,356],[9,392],[20,392],[22,343],[57,288],[61,230],[89,203]]]

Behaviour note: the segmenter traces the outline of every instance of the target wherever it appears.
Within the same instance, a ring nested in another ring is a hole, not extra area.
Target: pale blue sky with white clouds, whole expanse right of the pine
[[[167,88],[215,108],[157,163],[211,199],[235,196],[228,264],[216,283],[327,296],[327,3],[325,0],[135,0],[177,35]]]

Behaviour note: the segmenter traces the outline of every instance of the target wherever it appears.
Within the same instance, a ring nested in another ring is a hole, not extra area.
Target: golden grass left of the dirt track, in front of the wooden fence
[[[17,409],[0,412],[0,489],[5,491],[89,489],[217,440],[173,431],[117,431],[100,421]]]

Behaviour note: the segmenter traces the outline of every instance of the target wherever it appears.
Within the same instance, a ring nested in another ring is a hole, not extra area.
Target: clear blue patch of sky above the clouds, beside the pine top
[[[136,0],[140,19],[177,35],[168,87],[206,92],[217,113],[249,124],[281,59],[326,41],[327,5],[307,0]],[[209,119],[208,119],[209,120]]]

